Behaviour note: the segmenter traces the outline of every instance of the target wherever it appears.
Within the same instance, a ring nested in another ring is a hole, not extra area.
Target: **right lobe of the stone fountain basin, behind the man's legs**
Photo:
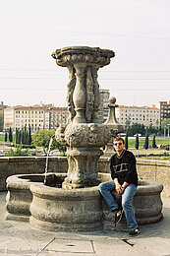
[[[100,173],[99,176],[103,182],[111,180],[109,173]],[[163,220],[163,215],[161,212],[162,201],[160,197],[162,190],[163,185],[161,183],[139,179],[139,186],[132,200],[132,205],[138,224],[154,224]],[[118,202],[120,201],[120,196],[116,192],[113,192],[113,196]],[[102,209],[104,229],[114,228],[114,216],[110,213],[103,199]],[[125,230],[127,228],[125,217],[117,226],[118,229]]]

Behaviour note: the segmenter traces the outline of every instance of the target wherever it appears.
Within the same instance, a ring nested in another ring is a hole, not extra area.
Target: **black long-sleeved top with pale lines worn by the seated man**
[[[124,150],[120,157],[113,155],[110,159],[110,169],[112,179],[118,178],[121,185],[126,181],[138,186],[136,158],[132,152]]]

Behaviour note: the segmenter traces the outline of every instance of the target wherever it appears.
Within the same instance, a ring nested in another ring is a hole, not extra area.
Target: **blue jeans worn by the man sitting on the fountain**
[[[108,205],[110,211],[114,211],[118,208],[118,204],[113,198],[111,192],[116,189],[114,181],[107,181],[99,184],[99,191],[103,196],[106,204]],[[127,224],[130,229],[136,229],[138,227],[133,206],[131,204],[131,200],[135,195],[137,190],[136,185],[129,184],[123,194],[122,194],[122,207],[125,213],[125,217],[127,220]]]

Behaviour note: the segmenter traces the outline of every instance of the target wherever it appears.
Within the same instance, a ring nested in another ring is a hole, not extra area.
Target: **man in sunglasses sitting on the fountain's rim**
[[[124,211],[127,224],[130,228],[129,234],[132,236],[138,235],[140,228],[131,204],[131,200],[138,186],[136,159],[133,153],[125,150],[125,142],[121,137],[115,138],[113,145],[116,151],[116,154],[110,159],[111,177],[113,180],[99,184],[99,191],[110,211],[115,212],[115,224],[121,221]],[[122,195],[121,208],[111,195],[111,192],[114,190],[119,195]]]

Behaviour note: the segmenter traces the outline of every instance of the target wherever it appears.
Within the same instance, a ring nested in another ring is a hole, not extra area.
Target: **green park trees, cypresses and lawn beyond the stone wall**
[[[142,124],[135,123],[130,126],[127,123],[125,128],[125,148],[127,150],[147,150],[150,148],[160,148],[169,151],[170,141],[161,137],[162,135],[164,135],[163,132],[165,125],[169,123],[170,120],[164,120],[160,129],[153,128],[151,124],[146,129]],[[13,134],[10,127],[10,129],[6,131],[4,135],[0,135],[1,142],[5,141],[7,144],[9,142],[10,147],[15,147],[15,150],[11,149],[11,151],[6,154],[6,156],[8,157],[29,156],[30,149],[35,149],[34,152],[38,152],[40,149],[43,149],[43,153],[47,154],[50,139],[52,136],[54,137],[55,135],[54,130],[46,129],[38,130],[35,133],[31,134],[30,126],[28,128],[25,127],[23,129],[16,129],[15,131],[15,134]],[[51,151],[52,150],[58,150],[61,155],[65,156],[66,147],[60,145],[55,140],[55,137],[53,138],[53,143],[51,146]]]

